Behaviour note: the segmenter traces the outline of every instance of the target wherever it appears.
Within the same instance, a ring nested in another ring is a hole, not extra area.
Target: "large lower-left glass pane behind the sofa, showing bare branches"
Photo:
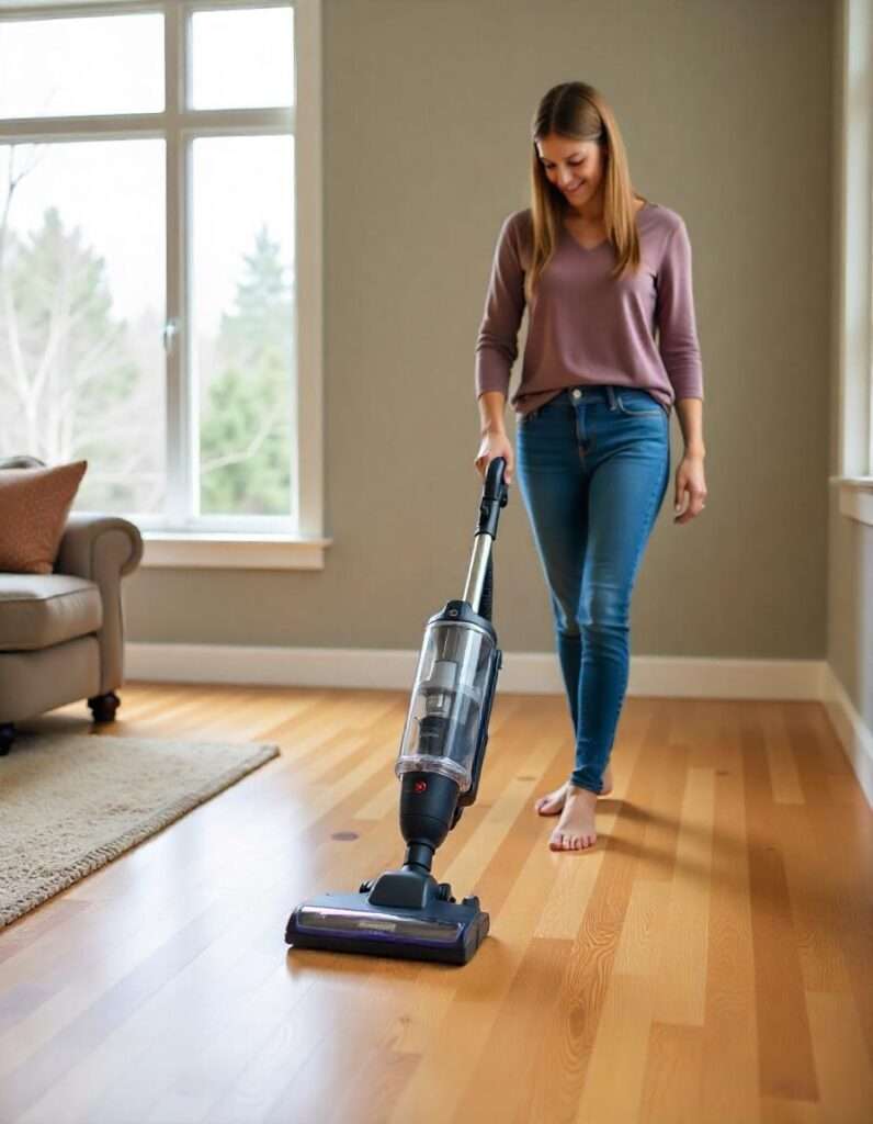
[[[0,456],[88,460],[78,510],[164,506],[164,178],[158,139],[0,145]]]

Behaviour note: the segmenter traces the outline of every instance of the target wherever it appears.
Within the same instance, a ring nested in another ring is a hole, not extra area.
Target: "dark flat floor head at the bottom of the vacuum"
[[[300,949],[465,964],[488,928],[489,915],[475,898],[433,901],[421,910],[373,906],[366,894],[322,894],[294,909],[285,942]]]

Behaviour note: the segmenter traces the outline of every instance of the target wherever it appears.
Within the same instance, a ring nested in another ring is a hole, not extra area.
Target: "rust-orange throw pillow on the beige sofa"
[[[52,573],[88,461],[0,469],[0,570]]]

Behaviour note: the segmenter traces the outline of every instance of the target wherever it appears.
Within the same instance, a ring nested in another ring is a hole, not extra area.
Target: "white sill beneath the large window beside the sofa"
[[[144,531],[140,566],[210,570],[324,570],[333,538]]]

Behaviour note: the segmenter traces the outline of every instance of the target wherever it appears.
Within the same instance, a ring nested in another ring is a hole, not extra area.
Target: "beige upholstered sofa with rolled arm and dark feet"
[[[3,469],[42,468],[33,456]],[[0,756],[15,723],[76,699],[111,722],[124,681],[121,578],[143,556],[138,528],[117,516],[71,513],[53,573],[0,572]]]

